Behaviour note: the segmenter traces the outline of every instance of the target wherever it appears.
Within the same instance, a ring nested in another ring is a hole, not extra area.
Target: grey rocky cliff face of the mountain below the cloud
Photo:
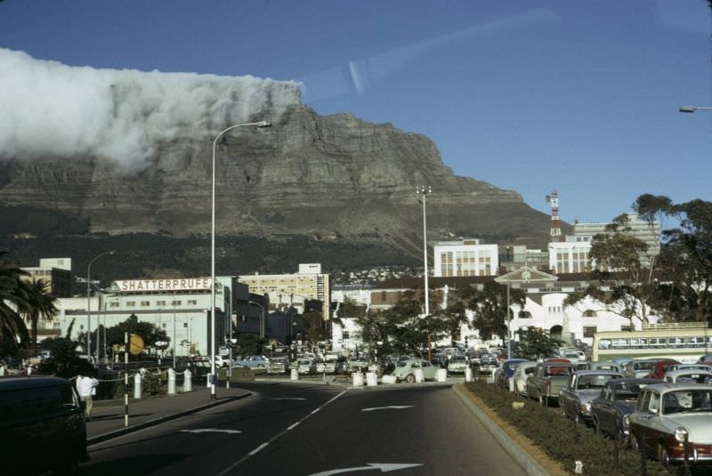
[[[238,128],[217,147],[222,234],[413,238],[422,233],[414,190],[430,185],[428,234],[520,236],[543,242],[548,217],[514,191],[455,176],[433,141],[392,125],[295,105],[271,128]],[[0,206],[77,214],[96,232],[210,230],[212,137],[158,145],[141,172],[96,157],[0,162]],[[18,230],[28,231],[28,230]],[[29,230],[31,231],[31,230]]]

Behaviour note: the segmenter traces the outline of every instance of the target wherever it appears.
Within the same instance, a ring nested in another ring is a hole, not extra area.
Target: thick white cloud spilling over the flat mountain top
[[[279,114],[299,86],[257,77],[72,67],[0,48],[0,158],[107,158],[142,168],[158,142]]]

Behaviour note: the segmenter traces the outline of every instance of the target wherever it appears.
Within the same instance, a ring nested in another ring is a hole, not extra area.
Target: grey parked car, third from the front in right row
[[[623,377],[620,372],[609,370],[578,370],[569,375],[569,381],[559,392],[559,407],[563,408],[563,415],[577,422],[590,422],[591,401],[601,393],[608,381]]]

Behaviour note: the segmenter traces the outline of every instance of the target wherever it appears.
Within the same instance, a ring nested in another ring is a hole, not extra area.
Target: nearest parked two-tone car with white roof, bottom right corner
[[[648,385],[628,421],[631,446],[663,466],[682,464],[685,456],[692,466],[712,466],[712,386]]]

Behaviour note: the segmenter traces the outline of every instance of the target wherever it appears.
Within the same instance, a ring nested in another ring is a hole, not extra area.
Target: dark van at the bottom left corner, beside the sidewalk
[[[59,377],[0,379],[0,452],[3,474],[77,473],[87,455],[75,386]]]

